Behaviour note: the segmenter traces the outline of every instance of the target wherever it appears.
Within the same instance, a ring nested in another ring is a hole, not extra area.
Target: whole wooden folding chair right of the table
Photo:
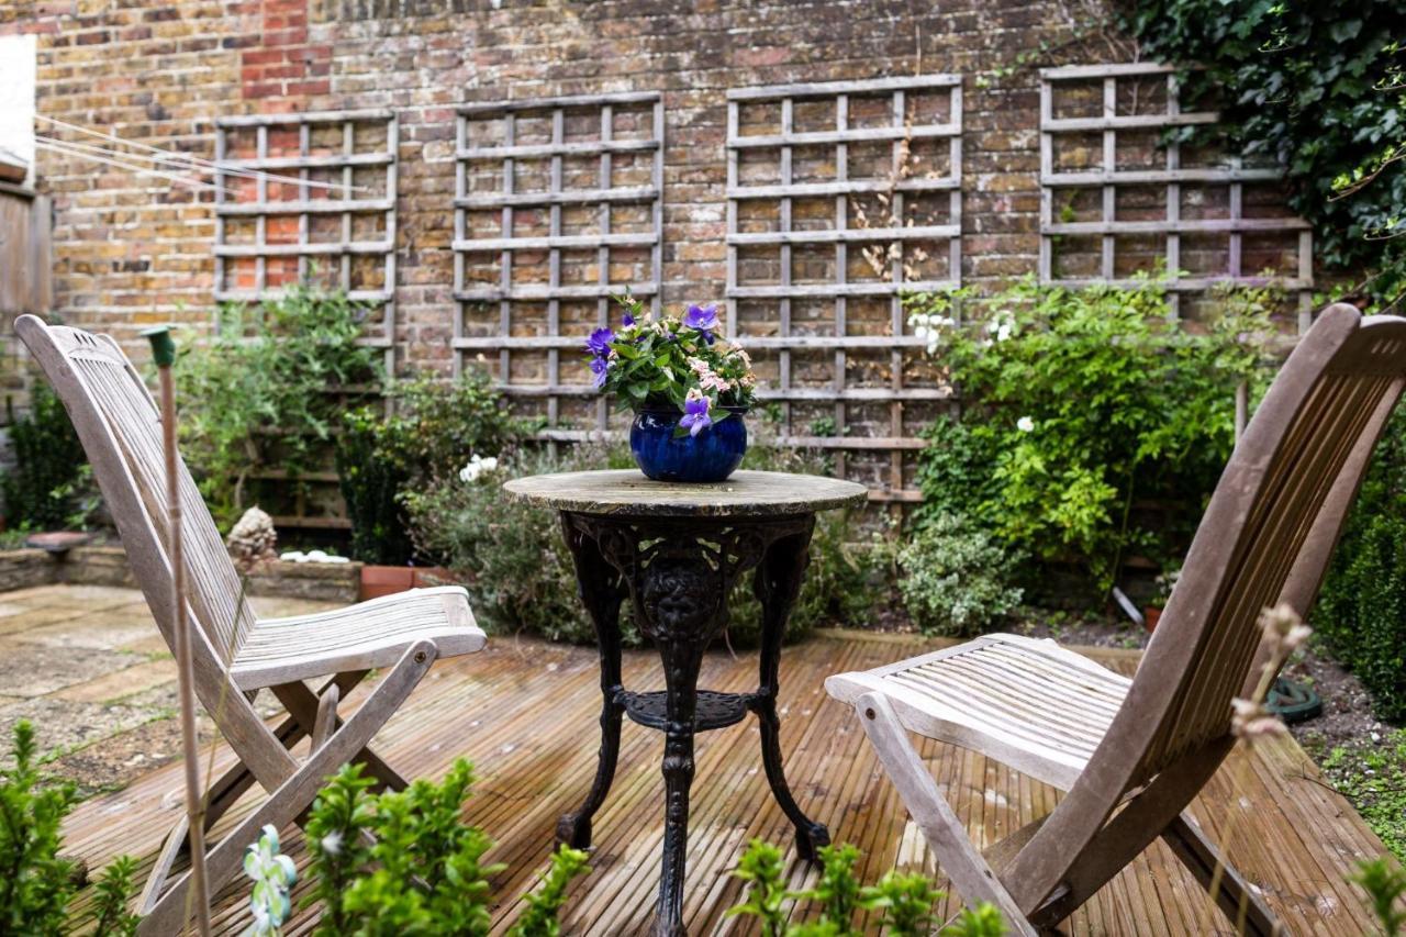
[[[1232,748],[1230,699],[1263,670],[1260,611],[1309,611],[1403,376],[1406,319],[1344,304],[1319,317],[1232,454],[1132,680],[1054,642],[988,635],[825,681],[853,705],[966,902],[991,902],[1033,934],[1161,837],[1204,886],[1215,882],[1241,933],[1282,933],[1185,809]],[[905,730],[1069,793],[983,853]]]

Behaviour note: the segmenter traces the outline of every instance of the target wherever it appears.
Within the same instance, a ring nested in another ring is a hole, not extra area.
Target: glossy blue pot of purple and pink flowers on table
[[[745,415],[755,401],[752,362],[717,338],[716,305],[655,318],[620,297],[619,329],[586,339],[598,390],[634,412],[630,452],[655,481],[725,480],[747,452]]]

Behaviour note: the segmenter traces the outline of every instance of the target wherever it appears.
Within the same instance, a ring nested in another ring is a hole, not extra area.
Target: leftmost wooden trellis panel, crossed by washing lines
[[[398,124],[385,110],[224,117],[215,159],[215,300],[254,302],[297,281],[375,312],[367,345],[394,370]]]

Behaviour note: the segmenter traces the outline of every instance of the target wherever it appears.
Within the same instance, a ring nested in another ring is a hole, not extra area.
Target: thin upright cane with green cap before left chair
[[[162,445],[166,450],[166,523],[172,557],[172,609],[176,620],[176,682],[180,695],[180,734],[186,760],[186,820],[190,836],[188,900],[195,903],[195,926],[201,937],[209,937],[209,891],[205,884],[205,798],[200,786],[200,751],[195,739],[195,677],[191,664],[190,618],[186,612],[186,559],[181,552],[180,457],[176,447],[176,390],[172,364],[176,362],[176,342],[169,326],[142,332],[152,343],[152,357],[160,380]],[[184,920],[190,920],[191,907]]]

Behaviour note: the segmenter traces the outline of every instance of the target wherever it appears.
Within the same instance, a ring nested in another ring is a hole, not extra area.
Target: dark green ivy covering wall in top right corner
[[[1399,0],[1125,0],[1144,58],[1202,66],[1232,145],[1272,153],[1320,262],[1378,305],[1406,294],[1406,17]],[[1195,128],[1182,128],[1191,135]],[[1201,131],[1205,132],[1205,131]]]

